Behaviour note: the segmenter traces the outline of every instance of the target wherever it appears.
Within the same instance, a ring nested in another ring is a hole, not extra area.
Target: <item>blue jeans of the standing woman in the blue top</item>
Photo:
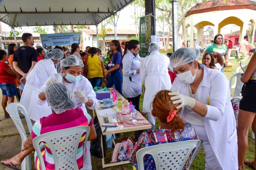
[[[122,81],[123,81],[123,74],[121,73],[121,70],[119,69],[117,72],[112,73],[108,78],[108,82],[106,87],[110,88],[113,86],[113,84],[115,85],[115,89],[122,95],[123,95],[123,91],[122,91]]]

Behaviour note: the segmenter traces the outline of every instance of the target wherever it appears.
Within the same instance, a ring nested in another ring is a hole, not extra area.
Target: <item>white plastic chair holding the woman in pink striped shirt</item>
[[[90,134],[89,126],[77,126],[58,131],[51,131],[34,138],[33,145],[40,161],[41,170],[46,170],[44,159],[39,147],[39,143],[41,141],[44,141],[49,146],[52,152],[55,170],[78,169],[76,163],[76,153],[80,138],[84,132],[86,132],[86,137],[84,141],[85,153],[86,142]]]

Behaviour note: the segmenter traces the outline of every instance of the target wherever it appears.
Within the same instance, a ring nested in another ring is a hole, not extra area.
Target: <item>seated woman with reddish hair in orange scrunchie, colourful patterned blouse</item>
[[[136,152],[144,147],[158,145],[159,143],[171,143],[185,140],[198,139],[194,127],[189,123],[184,123],[183,119],[179,116],[180,109],[176,109],[178,104],[173,104],[169,100],[171,91],[161,90],[156,93],[156,96],[152,103],[152,115],[157,117],[160,124],[160,129],[155,131],[147,131],[140,134],[140,137],[132,153],[129,155],[129,161],[138,170],[138,163],[136,159]],[[184,166],[184,169],[188,169],[191,156]],[[156,169],[156,164],[152,155],[144,156],[144,168]]]

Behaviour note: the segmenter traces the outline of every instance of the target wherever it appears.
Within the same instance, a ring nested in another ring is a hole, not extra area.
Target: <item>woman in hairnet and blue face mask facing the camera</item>
[[[36,102],[38,104],[46,103],[45,98],[45,87],[52,82],[60,82],[66,85],[72,94],[76,98],[76,105],[74,109],[81,108],[84,111],[85,116],[87,115],[87,111],[85,108],[85,104],[91,110],[96,109],[98,105],[98,100],[96,99],[96,94],[92,89],[92,85],[90,81],[84,76],[81,76],[83,72],[83,61],[71,55],[64,60],[60,60],[60,67],[62,73],[52,74],[44,83],[44,85],[38,90],[36,96]],[[88,117],[87,117],[88,118]],[[88,121],[89,118],[88,118]],[[90,148],[90,142],[86,144],[87,148]],[[92,169],[91,165],[91,154],[90,150],[87,150],[87,156],[85,158],[85,169]]]

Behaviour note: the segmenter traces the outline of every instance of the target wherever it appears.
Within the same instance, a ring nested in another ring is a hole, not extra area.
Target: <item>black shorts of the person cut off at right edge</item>
[[[244,83],[242,96],[239,109],[256,113],[256,80],[249,80],[247,83]]]

